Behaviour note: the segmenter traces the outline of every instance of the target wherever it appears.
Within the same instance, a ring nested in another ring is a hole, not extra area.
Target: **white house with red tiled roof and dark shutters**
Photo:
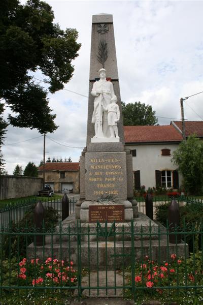
[[[203,139],[203,121],[185,121],[186,137]],[[141,186],[178,189],[182,175],[172,160],[182,141],[182,122],[167,126],[124,126],[125,145],[132,155],[134,188]]]

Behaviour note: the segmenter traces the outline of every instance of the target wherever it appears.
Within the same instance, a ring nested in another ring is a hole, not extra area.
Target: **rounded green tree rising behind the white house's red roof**
[[[135,102],[125,104],[121,102],[123,113],[123,125],[155,125],[158,122],[152,106],[145,103]]]

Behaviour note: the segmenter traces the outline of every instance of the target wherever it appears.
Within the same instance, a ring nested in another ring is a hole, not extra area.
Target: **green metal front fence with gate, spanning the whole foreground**
[[[55,228],[2,228],[0,293],[125,296],[198,294],[203,289],[203,223],[198,228],[148,227],[131,221]],[[177,243],[178,235],[182,236]],[[36,237],[43,236],[43,246]],[[188,252],[188,238],[192,253]],[[198,243],[198,249],[197,247]]]

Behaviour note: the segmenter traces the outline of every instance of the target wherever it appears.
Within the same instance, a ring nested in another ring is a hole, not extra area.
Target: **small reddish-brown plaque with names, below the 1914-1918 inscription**
[[[124,222],[124,205],[89,205],[89,222]]]

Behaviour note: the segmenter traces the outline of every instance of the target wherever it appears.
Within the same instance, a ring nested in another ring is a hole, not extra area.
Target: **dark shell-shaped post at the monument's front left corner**
[[[39,200],[34,210],[34,223],[36,229],[38,229],[39,232],[42,232],[44,219],[45,219],[45,208],[42,202]],[[44,245],[45,245],[45,238],[44,238]],[[36,246],[43,246],[43,235],[36,235]]]

